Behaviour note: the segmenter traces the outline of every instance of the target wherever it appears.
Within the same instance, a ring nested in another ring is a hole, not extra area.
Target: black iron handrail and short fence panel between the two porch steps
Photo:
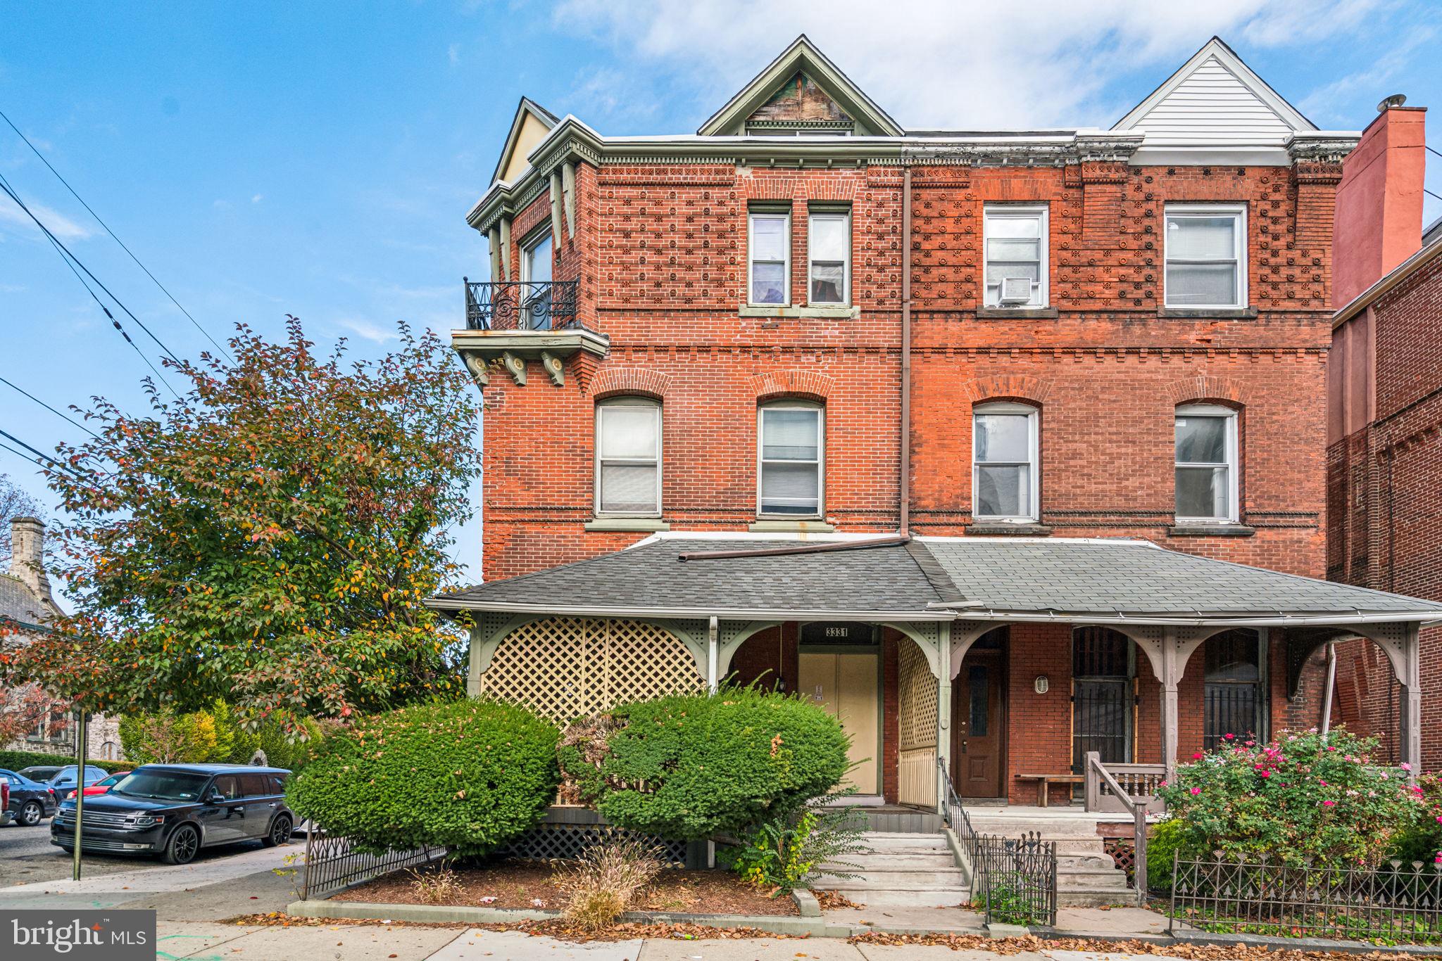
[[[966,815],[946,761],[937,758],[946,824],[956,834],[970,869],[972,903],[986,924],[1057,924],[1057,844],[1041,834],[996,837],[978,834]]]

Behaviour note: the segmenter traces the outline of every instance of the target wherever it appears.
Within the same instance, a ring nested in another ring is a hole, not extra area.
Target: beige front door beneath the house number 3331
[[[800,693],[835,716],[851,735],[855,765],[842,784],[857,794],[880,794],[877,758],[881,754],[877,679],[881,657],[875,651],[800,653]]]

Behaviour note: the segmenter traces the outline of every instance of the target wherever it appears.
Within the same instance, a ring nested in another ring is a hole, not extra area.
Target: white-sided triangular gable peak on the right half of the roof
[[[1112,130],[1158,141],[1280,140],[1317,130],[1220,37],[1211,37]]]

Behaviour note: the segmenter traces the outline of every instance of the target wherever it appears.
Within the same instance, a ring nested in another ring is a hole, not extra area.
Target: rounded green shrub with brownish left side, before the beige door
[[[831,792],[851,764],[835,718],[753,687],[623,705],[613,716],[623,726],[606,738],[598,777],[572,781],[596,790],[613,824],[660,837],[744,834]]]

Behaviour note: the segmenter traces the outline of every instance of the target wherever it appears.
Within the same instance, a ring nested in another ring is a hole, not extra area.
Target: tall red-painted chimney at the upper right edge
[[[1351,303],[1422,248],[1426,107],[1383,101],[1379,111],[1343,163],[1337,187],[1334,308]]]

